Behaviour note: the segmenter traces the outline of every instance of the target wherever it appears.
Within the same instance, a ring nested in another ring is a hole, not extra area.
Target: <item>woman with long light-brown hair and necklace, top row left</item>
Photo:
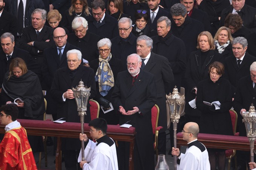
[[[87,0],[72,0],[70,8],[65,12],[63,16],[63,26],[66,27],[69,32],[72,32],[72,21],[78,17],[84,17],[87,19],[91,15],[91,9],[88,7]]]

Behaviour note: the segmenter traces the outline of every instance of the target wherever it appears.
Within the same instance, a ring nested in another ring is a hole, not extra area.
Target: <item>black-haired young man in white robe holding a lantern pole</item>
[[[79,135],[81,141],[84,140],[84,158],[82,161],[82,150],[79,153],[78,162],[83,170],[118,170],[116,145],[107,133],[107,122],[105,119],[97,118],[89,122],[91,138],[86,134]]]

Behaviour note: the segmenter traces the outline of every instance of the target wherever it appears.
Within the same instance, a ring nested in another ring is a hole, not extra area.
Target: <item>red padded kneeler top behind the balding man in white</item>
[[[207,148],[250,150],[250,142],[244,136],[199,133],[197,139]],[[177,133],[177,147],[180,146],[187,146],[187,141],[183,140],[181,132]]]

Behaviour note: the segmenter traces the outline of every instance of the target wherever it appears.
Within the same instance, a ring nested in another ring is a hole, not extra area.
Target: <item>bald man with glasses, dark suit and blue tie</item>
[[[48,103],[46,109],[47,114],[52,114],[53,119],[55,119],[57,111],[55,107],[56,104],[55,101],[52,99],[50,93],[47,93],[47,91],[49,91],[52,86],[52,81],[56,70],[67,66],[67,51],[73,49],[80,50],[80,48],[67,42],[66,32],[61,27],[58,27],[54,30],[53,40],[55,42],[55,45],[44,50],[44,60],[42,65],[42,89],[46,90],[46,100]]]

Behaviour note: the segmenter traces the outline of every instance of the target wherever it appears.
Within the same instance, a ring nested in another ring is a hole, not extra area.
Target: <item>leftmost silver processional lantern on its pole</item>
[[[80,116],[81,122],[81,133],[84,134],[84,115],[86,115],[87,104],[89,96],[91,95],[91,87],[84,87],[84,82],[79,81],[79,85],[76,88],[72,88],[73,96],[76,100],[76,106],[78,111],[78,116]],[[84,141],[81,142],[82,147],[82,161],[84,161]]]

